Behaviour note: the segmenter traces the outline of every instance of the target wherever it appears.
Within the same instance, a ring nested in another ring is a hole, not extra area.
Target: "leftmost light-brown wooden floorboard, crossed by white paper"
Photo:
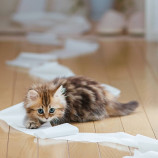
[[[15,84],[15,70],[6,66],[5,61],[17,54],[16,42],[0,43],[0,110],[12,105],[13,87]],[[9,142],[9,126],[0,121],[0,157],[6,157]]]

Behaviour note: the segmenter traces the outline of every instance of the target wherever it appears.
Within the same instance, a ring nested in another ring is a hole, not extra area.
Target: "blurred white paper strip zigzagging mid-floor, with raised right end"
[[[94,53],[98,47],[98,43],[95,42],[68,39],[65,42],[64,49],[47,53],[23,52],[16,59],[7,61],[6,63],[11,66],[32,68],[52,60]]]

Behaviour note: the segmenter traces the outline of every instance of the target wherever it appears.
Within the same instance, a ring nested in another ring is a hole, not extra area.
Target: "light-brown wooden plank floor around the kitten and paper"
[[[0,41],[0,110],[19,103],[33,79],[20,68],[5,65],[21,51],[46,52],[53,47],[24,41]],[[140,107],[129,116],[75,124],[80,132],[120,132],[158,138],[158,44],[143,40],[101,40],[93,55],[60,60],[74,73],[119,88],[120,101],[138,100]],[[35,139],[0,121],[0,158],[121,158],[120,151],[97,143]]]

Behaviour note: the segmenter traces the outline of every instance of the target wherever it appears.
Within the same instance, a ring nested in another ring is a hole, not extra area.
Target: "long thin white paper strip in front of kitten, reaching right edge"
[[[69,140],[77,142],[109,142],[130,146],[139,149],[140,152],[158,152],[158,140],[140,134],[132,136],[124,132],[117,133],[77,133],[73,136],[59,137],[56,140]]]

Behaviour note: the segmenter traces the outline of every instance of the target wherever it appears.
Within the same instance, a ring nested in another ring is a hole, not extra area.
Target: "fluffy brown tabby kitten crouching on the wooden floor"
[[[26,128],[33,129],[45,122],[54,126],[123,116],[133,112],[138,103],[119,103],[98,82],[69,77],[33,85],[25,97],[24,107],[28,117]]]

